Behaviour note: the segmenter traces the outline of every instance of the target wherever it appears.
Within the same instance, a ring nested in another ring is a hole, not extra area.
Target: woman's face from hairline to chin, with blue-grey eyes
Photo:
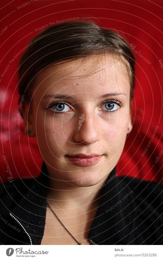
[[[28,116],[50,176],[79,187],[109,175],[132,129],[126,68],[112,56],[103,57],[92,74],[98,59],[81,58],[39,73]],[[96,164],[77,165],[68,155],[79,153],[102,157]]]

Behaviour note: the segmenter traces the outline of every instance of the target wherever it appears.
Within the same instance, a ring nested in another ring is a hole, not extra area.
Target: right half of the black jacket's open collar
[[[116,174],[116,167],[108,180]],[[88,235],[95,243],[125,245],[135,227],[134,178],[113,178],[103,190],[100,205]],[[131,184],[130,184],[131,183]]]

